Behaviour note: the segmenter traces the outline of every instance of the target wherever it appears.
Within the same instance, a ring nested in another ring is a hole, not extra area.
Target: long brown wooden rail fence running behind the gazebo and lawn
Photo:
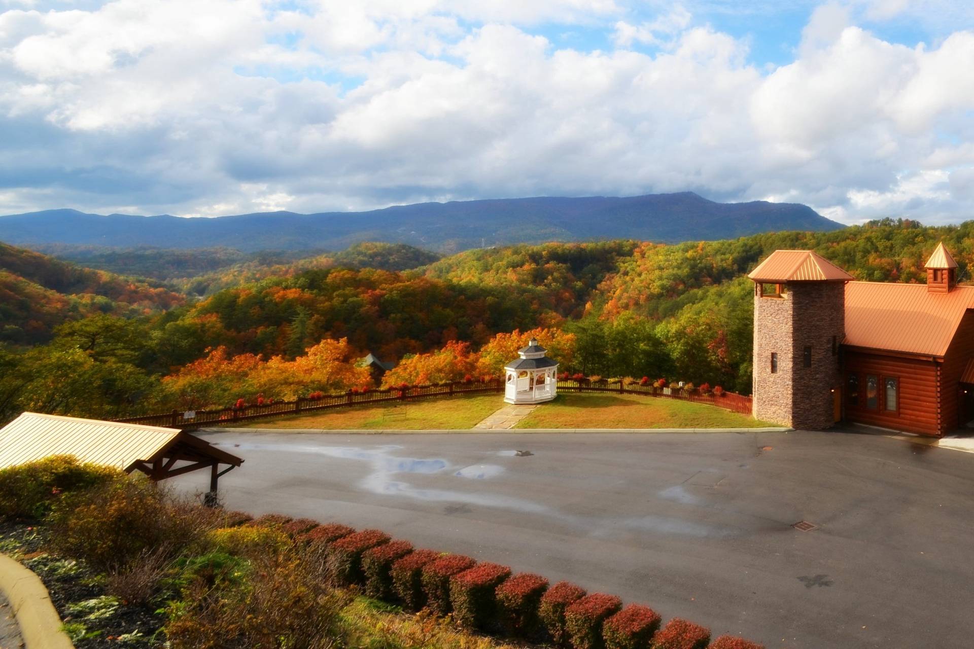
[[[723,392],[715,395],[713,392],[702,394],[699,390],[683,390],[680,388],[653,387],[637,383],[624,384],[621,380],[601,380],[589,382],[587,380],[561,379],[558,389],[567,392],[609,392],[614,394],[641,394],[648,397],[662,399],[678,399],[692,401],[698,404],[718,406],[735,413],[751,414],[751,397]],[[272,416],[301,415],[334,408],[347,408],[360,404],[379,404],[429,399],[431,397],[449,397],[458,394],[482,394],[484,392],[503,392],[504,382],[501,379],[491,381],[453,382],[437,385],[413,385],[404,390],[392,387],[383,390],[369,390],[368,392],[343,392],[341,394],[325,394],[320,398],[304,398],[295,401],[276,401],[273,404],[261,406],[247,405],[243,408],[223,408],[213,411],[191,411],[180,413],[172,411],[165,415],[142,415],[126,419],[114,419],[123,423],[141,423],[148,426],[163,426],[166,428],[196,429],[204,426],[232,425],[251,419],[264,419]]]

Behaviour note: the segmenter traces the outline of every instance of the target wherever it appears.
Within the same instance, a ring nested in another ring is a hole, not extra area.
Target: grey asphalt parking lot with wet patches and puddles
[[[840,432],[201,435],[245,459],[220,480],[231,509],[379,527],[769,648],[974,636],[972,453]]]

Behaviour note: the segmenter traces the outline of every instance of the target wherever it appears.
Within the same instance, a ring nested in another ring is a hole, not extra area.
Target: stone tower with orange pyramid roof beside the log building
[[[777,250],[754,281],[754,416],[803,429],[836,421],[844,270],[808,250]]]

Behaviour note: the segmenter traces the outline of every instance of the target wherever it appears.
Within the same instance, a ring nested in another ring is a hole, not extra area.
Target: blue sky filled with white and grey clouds
[[[684,191],[974,218],[974,2],[0,0],[0,214]]]

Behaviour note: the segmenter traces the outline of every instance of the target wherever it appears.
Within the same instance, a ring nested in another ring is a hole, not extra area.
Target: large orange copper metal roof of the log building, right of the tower
[[[943,356],[968,308],[974,286],[929,293],[925,284],[848,282],[844,343]]]

